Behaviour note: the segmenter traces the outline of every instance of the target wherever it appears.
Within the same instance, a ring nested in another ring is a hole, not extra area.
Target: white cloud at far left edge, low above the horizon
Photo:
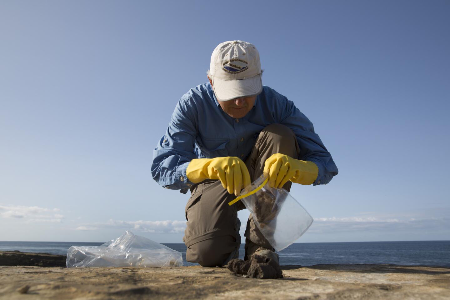
[[[0,218],[24,219],[26,222],[60,223],[64,218],[58,214],[58,208],[44,208],[39,206],[0,205]]]

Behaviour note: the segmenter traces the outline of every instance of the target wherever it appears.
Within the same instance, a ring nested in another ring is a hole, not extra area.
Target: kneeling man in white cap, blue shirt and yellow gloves
[[[204,267],[238,257],[238,210],[229,206],[263,172],[270,187],[327,184],[338,174],[311,121],[261,81],[256,47],[235,40],[211,55],[209,82],[189,90],[153,152],[152,175],[165,188],[191,196],[185,208],[186,259]],[[253,254],[279,262],[252,220],[245,231],[245,260]]]

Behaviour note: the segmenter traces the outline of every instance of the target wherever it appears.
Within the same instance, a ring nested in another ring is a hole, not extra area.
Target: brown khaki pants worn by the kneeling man
[[[258,178],[264,170],[264,162],[272,154],[283,153],[297,158],[300,149],[295,134],[281,124],[271,124],[258,136],[250,157],[245,164],[251,180]],[[288,181],[283,188],[291,188]],[[241,244],[238,210],[245,208],[241,201],[229,206],[236,196],[229,194],[219,180],[205,180],[191,187],[191,197],[186,205],[187,227],[183,242],[186,244],[186,260],[203,267],[216,267],[228,263],[238,256]],[[256,227],[250,215],[245,231],[246,256],[263,246],[273,249]]]

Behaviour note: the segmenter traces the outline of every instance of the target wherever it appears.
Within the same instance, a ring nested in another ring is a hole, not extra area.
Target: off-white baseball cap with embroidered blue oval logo
[[[220,101],[262,91],[259,52],[254,45],[242,40],[219,44],[212,52],[209,72],[214,93]]]

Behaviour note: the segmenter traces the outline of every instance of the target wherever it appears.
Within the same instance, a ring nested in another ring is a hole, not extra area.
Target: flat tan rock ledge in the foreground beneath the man
[[[226,268],[2,266],[0,299],[450,299],[450,268],[389,264],[282,266],[283,278]]]

